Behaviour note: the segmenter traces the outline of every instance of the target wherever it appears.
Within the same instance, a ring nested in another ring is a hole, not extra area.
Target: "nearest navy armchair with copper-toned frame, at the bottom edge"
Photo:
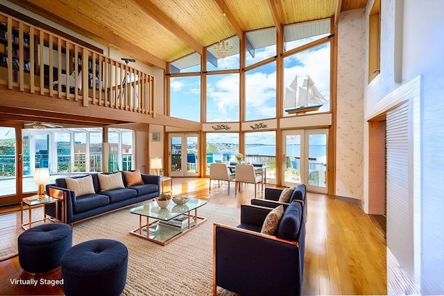
[[[272,210],[241,205],[238,227],[214,224],[213,295],[217,287],[248,295],[300,295],[305,223],[299,202],[284,205],[275,236],[261,234]]]

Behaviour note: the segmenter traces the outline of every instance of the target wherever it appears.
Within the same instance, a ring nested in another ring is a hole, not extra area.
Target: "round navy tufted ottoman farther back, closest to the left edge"
[[[72,228],[64,223],[37,225],[19,235],[19,264],[31,275],[60,267],[63,254],[72,246]]]

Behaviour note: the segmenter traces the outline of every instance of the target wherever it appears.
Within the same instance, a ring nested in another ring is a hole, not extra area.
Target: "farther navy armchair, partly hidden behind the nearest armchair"
[[[283,202],[279,202],[280,193],[282,193],[283,189],[275,189],[275,188],[266,188],[264,193],[264,198],[253,198],[251,200],[251,204],[255,204],[257,206],[262,207],[278,207],[280,204],[284,204]],[[304,212],[304,222],[307,223],[307,186],[305,184],[298,185],[293,193],[291,194],[290,203],[293,200],[302,201],[302,210]]]

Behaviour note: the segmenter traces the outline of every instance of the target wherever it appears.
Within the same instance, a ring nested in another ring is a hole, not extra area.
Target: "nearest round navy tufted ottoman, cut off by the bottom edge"
[[[128,249],[111,239],[85,241],[62,257],[63,290],[66,296],[120,295],[128,271]]]

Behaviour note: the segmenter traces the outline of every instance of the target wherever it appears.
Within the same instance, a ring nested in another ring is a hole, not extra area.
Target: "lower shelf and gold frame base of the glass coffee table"
[[[145,238],[146,240],[158,243],[159,245],[168,245],[172,241],[175,241],[176,238],[180,238],[180,236],[186,234],[190,230],[193,230],[207,220],[207,218],[199,217],[197,215],[184,215],[193,217],[196,223],[194,223],[194,225],[191,225],[191,227],[180,229],[180,227],[162,225],[161,223],[159,223],[160,220],[155,218],[151,218],[153,222],[150,223],[149,217],[139,216],[139,227],[133,229],[130,234]]]

